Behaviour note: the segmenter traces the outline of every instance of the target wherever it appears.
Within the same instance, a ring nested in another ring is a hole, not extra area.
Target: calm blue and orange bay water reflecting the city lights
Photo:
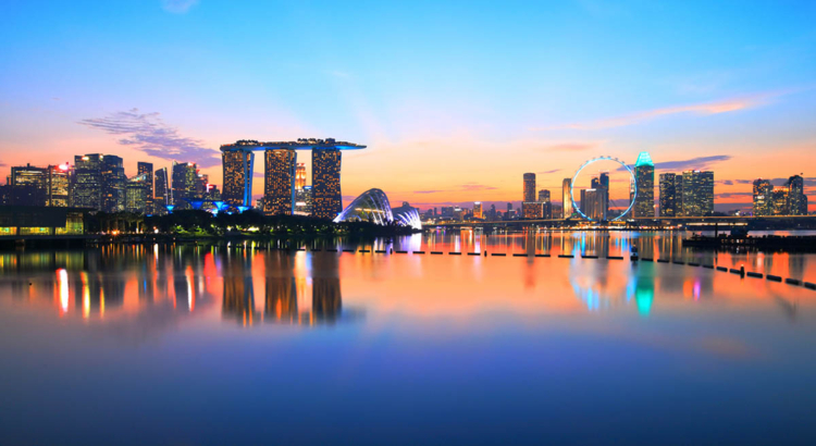
[[[816,292],[580,257],[816,282],[681,235],[0,253],[0,443],[813,444]]]

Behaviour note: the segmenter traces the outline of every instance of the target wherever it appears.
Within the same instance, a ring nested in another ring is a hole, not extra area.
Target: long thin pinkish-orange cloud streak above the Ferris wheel
[[[765,92],[751,96],[743,96],[730,99],[724,99],[713,102],[701,102],[685,106],[671,106],[654,110],[646,110],[621,116],[604,117],[595,121],[578,122],[570,124],[559,124],[554,126],[533,127],[533,132],[556,131],[556,129],[580,129],[580,131],[598,131],[604,128],[623,127],[627,125],[640,124],[662,116],[672,114],[693,114],[693,115],[712,115],[720,113],[735,112],[740,110],[755,109],[769,103],[774,98],[783,96],[791,91]]]

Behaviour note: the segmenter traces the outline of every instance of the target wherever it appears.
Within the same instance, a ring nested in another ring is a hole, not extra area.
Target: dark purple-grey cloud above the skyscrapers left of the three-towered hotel
[[[198,139],[181,136],[177,128],[169,126],[159,117],[159,113],[139,113],[138,109],[131,109],[78,123],[116,135],[121,137],[119,144],[132,146],[151,157],[193,161],[200,168],[212,168],[221,163],[218,150],[205,147]]]

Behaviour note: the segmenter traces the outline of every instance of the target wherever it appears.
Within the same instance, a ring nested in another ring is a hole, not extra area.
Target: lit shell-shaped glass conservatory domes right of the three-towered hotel
[[[403,206],[392,210],[388,197],[381,189],[369,189],[360,194],[334,222],[372,222],[383,226],[396,222],[403,226],[422,228],[416,208]]]

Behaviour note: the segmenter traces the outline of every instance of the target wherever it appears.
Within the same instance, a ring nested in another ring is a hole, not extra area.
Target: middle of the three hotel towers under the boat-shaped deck
[[[295,211],[297,153],[293,149],[264,152],[263,213],[292,215]]]

